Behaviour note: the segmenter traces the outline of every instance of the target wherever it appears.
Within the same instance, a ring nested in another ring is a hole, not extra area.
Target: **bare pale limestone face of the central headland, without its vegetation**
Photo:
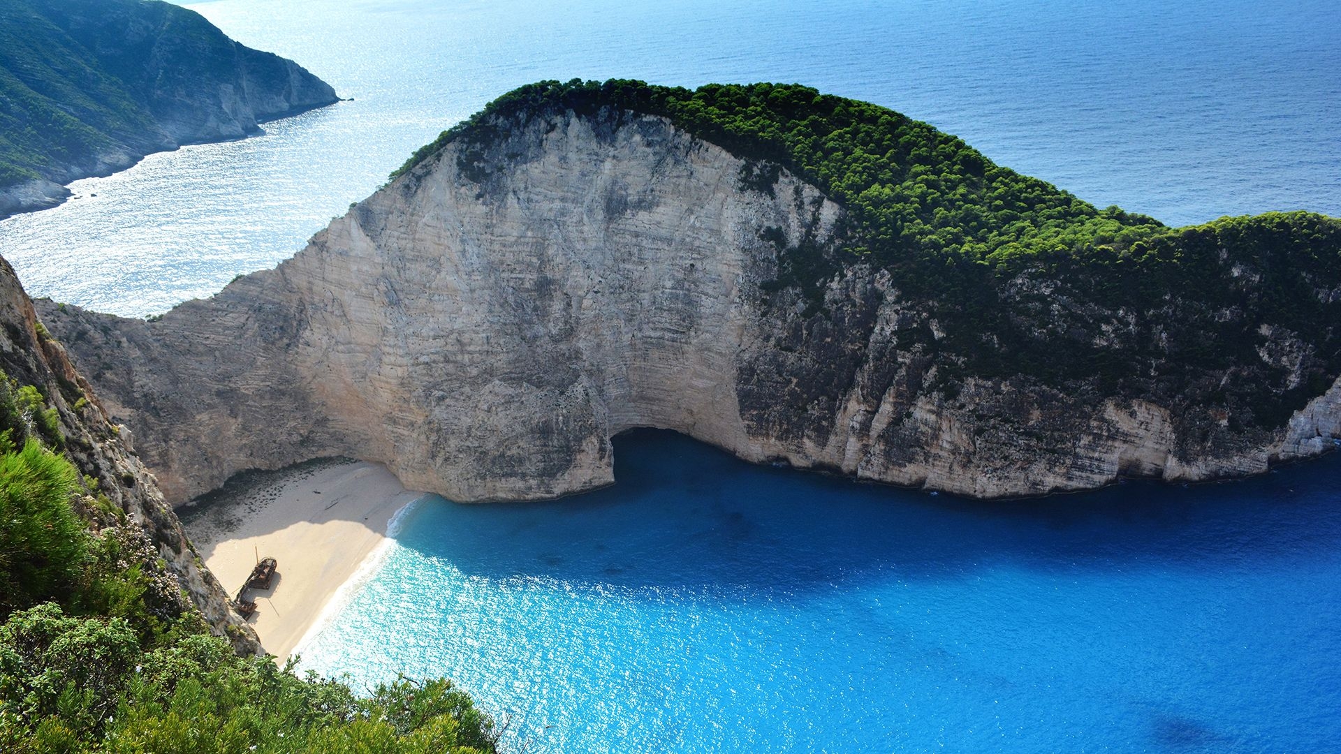
[[[551,498],[613,482],[633,427],[983,498],[1252,474],[1338,433],[1341,386],[1274,431],[1023,377],[945,389],[939,326],[889,272],[849,266],[819,313],[770,284],[779,246],[825,248],[839,207],[784,170],[747,188],[742,160],[657,117],[464,149],[158,322],[43,305],[170,499],[326,455],[456,500]]]

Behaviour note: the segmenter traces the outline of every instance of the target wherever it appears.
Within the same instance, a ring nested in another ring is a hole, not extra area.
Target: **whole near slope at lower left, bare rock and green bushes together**
[[[447,680],[357,698],[259,656],[3,259],[0,521],[3,751],[495,749]]]

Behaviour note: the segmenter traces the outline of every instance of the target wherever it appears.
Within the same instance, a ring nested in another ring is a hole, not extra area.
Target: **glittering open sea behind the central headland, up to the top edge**
[[[0,254],[35,295],[129,315],[209,295],[292,255],[441,129],[546,78],[803,82],[929,121],[1101,207],[1173,224],[1341,215],[1334,0],[190,7],[355,101],[152,156],[0,223]]]

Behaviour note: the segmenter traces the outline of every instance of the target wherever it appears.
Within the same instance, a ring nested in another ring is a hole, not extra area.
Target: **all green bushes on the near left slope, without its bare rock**
[[[209,636],[145,531],[43,447],[51,416],[0,373],[0,751],[493,751],[447,680],[362,699]]]

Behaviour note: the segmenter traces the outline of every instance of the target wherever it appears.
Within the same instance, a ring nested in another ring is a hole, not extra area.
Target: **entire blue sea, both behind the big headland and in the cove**
[[[1169,224],[1341,216],[1341,3],[217,0],[335,86],[0,221],[34,295],[149,315],[272,267],[518,85],[803,82]],[[1341,455],[1012,503],[617,440],[610,490],[428,498],[307,645],[449,675],[512,751],[1325,751]]]

